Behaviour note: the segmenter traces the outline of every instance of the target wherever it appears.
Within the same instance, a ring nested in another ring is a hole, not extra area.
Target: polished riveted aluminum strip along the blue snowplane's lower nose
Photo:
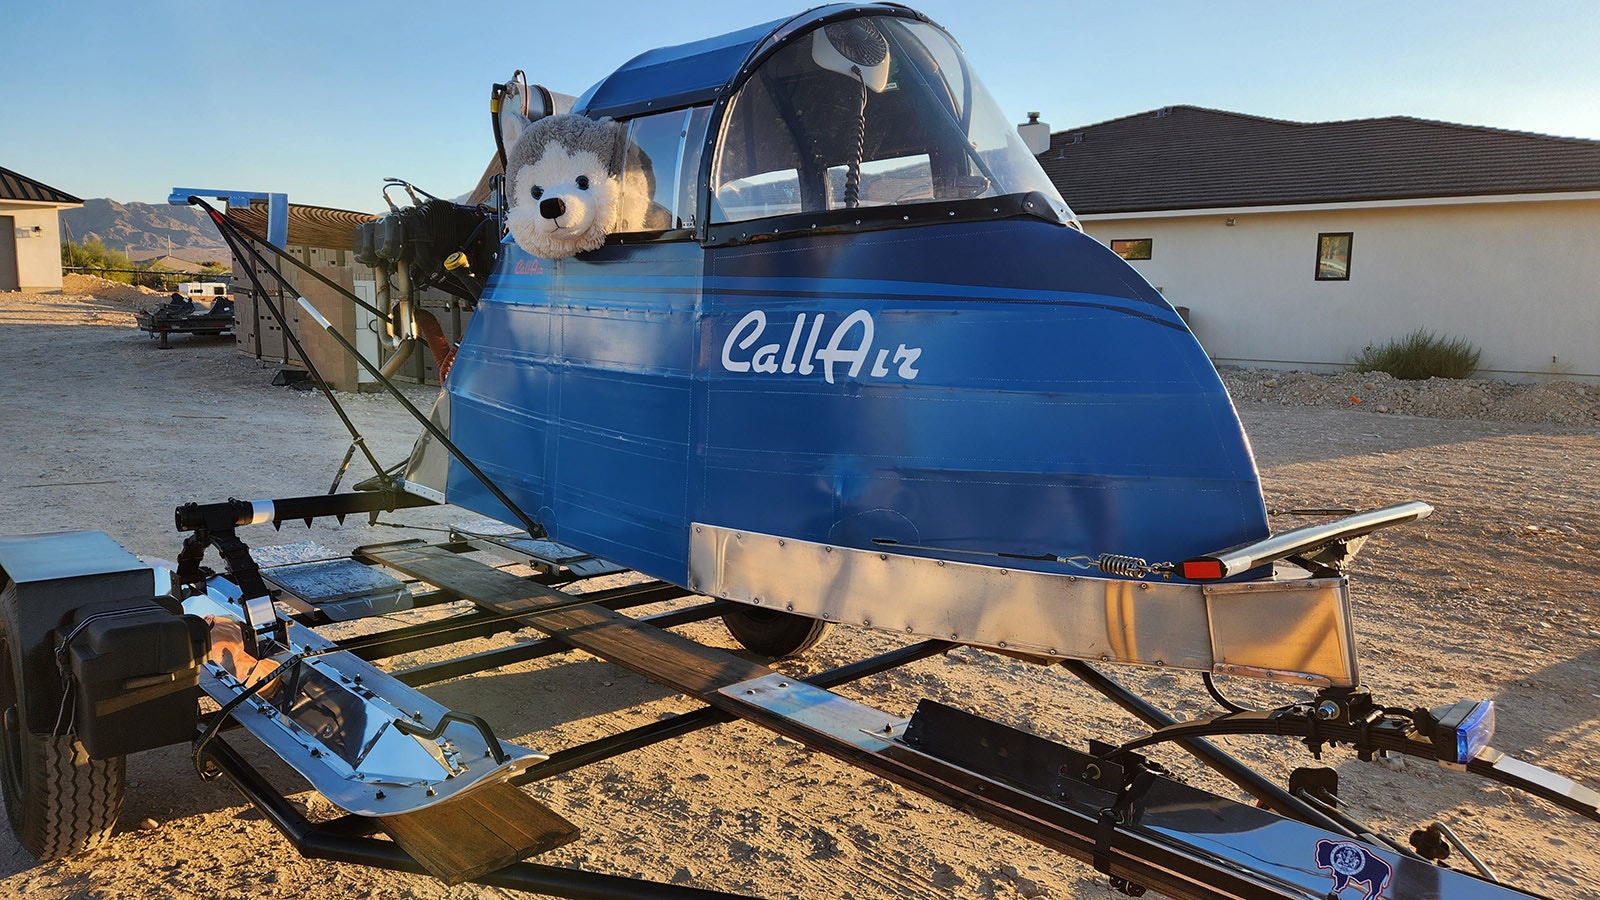
[[[1342,578],[1190,585],[1027,572],[696,524],[691,591],[1042,658],[1357,684]]]

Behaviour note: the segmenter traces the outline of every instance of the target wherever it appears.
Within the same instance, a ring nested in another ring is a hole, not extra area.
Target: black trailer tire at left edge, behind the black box
[[[58,684],[29,684],[11,604],[0,607],[0,781],[11,831],[40,862],[82,854],[110,838],[122,812],[126,769],[122,756],[90,759],[74,735],[38,735],[27,729],[22,697]]]

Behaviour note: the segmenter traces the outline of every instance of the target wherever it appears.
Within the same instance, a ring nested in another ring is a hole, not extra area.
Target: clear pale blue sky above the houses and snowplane
[[[477,181],[488,88],[514,69],[576,94],[643,50],[811,5],[0,0],[0,167],[80,197],[218,187],[376,211],[384,176],[438,195]],[[1014,120],[1056,130],[1195,104],[1600,139],[1594,0],[910,5]]]

